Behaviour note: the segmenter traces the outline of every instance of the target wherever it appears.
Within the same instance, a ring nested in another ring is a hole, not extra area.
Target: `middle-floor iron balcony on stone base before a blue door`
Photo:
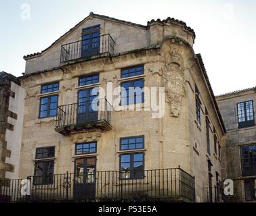
[[[106,99],[58,106],[55,130],[64,136],[91,129],[112,130],[111,113],[112,106]]]

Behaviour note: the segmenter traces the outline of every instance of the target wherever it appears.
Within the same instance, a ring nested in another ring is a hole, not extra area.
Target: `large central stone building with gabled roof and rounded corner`
[[[91,13],[24,56],[19,179],[30,180],[26,198],[221,202],[226,130],[195,37],[173,18],[143,26]],[[109,109],[112,94],[100,89],[116,87],[123,87],[117,107],[142,111]],[[158,101],[165,87],[163,117],[132,87],[157,87]]]

